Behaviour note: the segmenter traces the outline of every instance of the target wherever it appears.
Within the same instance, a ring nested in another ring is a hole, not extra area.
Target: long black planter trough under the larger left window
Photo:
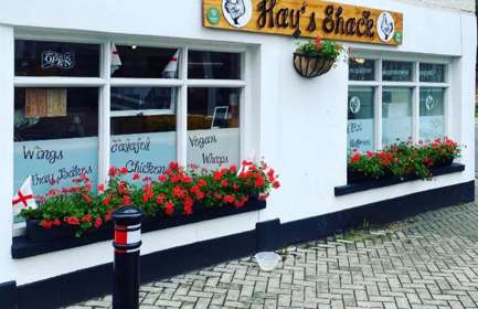
[[[222,207],[205,207],[203,204],[194,204],[194,213],[192,215],[174,214],[172,216],[164,216],[162,214],[157,217],[145,217],[142,221],[142,232],[152,232],[173,226],[217,219],[227,215],[241,214],[251,211],[265,209],[266,202],[259,201],[256,196],[251,198],[249,201],[241,209],[234,205],[224,205]],[[88,230],[81,237],[75,236],[75,228],[71,225],[62,224],[53,226],[52,228],[44,228],[39,225],[39,220],[26,221],[26,235],[25,239],[31,243],[45,243],[54,241],[66,239],[109,239],[113,236],[113,223],[102,225],[98,230]]]

